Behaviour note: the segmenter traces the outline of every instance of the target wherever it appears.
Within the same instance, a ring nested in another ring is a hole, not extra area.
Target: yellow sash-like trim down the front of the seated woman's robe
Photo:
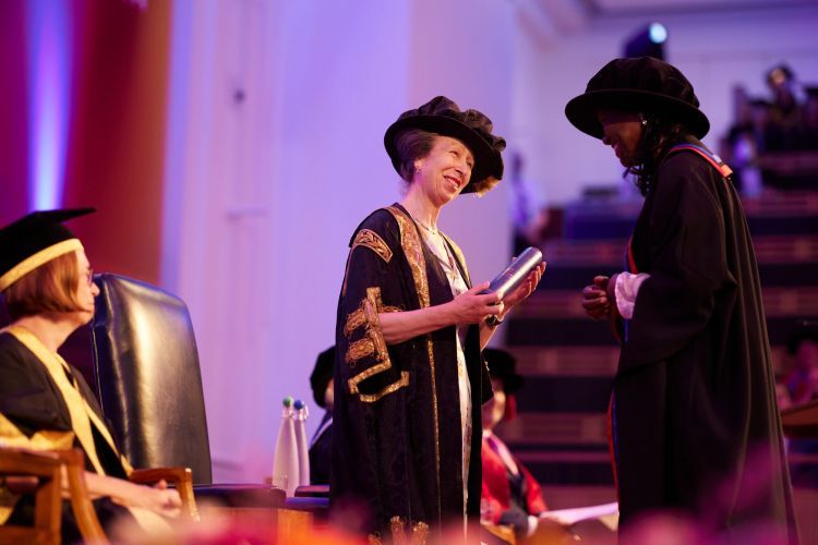
[[[28,329],[20,326],[9,326],[1,331],[8,331],[13,335],[20,342],[22,342],[34,355],[46,366],[48,374],[57,385],[57,388],[62,393],[62,398],[69,408],[71,414],[71,428],[76,434],[76,438],[80,440],[85,456],[91,460],[92,465],[100,475],[105,475],[105,469],[99,461],[96,446],[94,445],[94,434],[92,432],[92,425],[97,428],[97,432],[103,436],[108,446],[119,457],[122,462],[122,467],[127,474],[133,471],[133,468],[128,462],[125,457],[119,453],[116,445],[113,444],[113,437],[111,437],[108,427],[97,416],[96,412],[88,405],[88,402],[80,392],[80,388],[69,380],[67,372],[70,373],[70,367],[65,360],[63,360],[58,353],[51,352],[43,342]]]

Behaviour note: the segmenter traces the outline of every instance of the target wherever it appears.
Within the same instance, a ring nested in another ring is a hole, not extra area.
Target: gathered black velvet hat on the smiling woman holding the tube
[[[501,152],[505,149],[506,141],[502,136],[492,134],[494,129],[492,120],[482,112],[460,111],[454,101],[440,96],[418,109],[401,113],[384,135],[386,153],[389,154],[392,166],[398,173],[400,173],[400,157],[396,137],[410,129],[452,136],[466,144],[466,147],[471,150],[471,155],[474,156],[474,167],[471,169],[471,179],[462,193],[482,195],[503,179]]]

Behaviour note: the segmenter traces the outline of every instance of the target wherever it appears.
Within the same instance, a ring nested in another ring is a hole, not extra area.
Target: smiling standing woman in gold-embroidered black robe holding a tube
[[[481,349],[528,296],[544,266],[506,300],[471,286],[457,245],[437,228],[460,193],[503,177],[505,141],[491,120],[436,97],[384,136],[406,183],[350,242],[336,326],[330,496],[363,530],[423,541],[480,513],[480,405],[491,396]],[[411,537],[410,537],[411,536]]]

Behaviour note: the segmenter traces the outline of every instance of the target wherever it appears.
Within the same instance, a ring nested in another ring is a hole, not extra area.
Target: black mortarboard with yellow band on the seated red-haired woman
[[[62,225],[94,208],[34,211],[0,229],[0,291],[51,259],[83,245]]]

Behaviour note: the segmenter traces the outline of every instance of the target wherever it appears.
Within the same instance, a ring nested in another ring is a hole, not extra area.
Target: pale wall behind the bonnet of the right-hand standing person
[[[786,61],[804,82],[818,82],[818,7],[706,12],[659,16],[669,31],[665,56],[691,81],[712,125],[705,143],[718,148],[730,125],[731,88],[743,83],[766,93],[763,74]],[[553,203],[576,198],[582,185],[619,183],[610,149],[575,130],[565,104],[588,80],[622,55],[624,39],[646,17],[594,21],[558,44],[538,45],[518,36],[513,134],[527,159],[529,178],[540,181]]]

